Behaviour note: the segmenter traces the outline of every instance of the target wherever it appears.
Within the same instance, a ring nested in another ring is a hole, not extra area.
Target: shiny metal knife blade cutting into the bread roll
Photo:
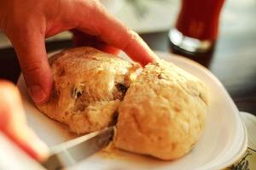
[[[51,155],[42,165],[49,170],[72,166],[102,150],[112,138],[113,127],[107,127],[101,131],[58,144],[50,149]]]

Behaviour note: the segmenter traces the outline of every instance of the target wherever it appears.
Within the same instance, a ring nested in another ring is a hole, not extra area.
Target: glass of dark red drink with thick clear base
[[[172,45],[191,53],[204,53],[218,37],[218,18],[224,0],[181,0],[175,28],[169,32]]]

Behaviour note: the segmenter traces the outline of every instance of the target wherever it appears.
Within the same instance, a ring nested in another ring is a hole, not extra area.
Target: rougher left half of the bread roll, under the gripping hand
[[[49,59],[53,89],[39,111],[74,133],[90,133],[116,121],[120,101],[137,65],[95,48],[72,48]]]

